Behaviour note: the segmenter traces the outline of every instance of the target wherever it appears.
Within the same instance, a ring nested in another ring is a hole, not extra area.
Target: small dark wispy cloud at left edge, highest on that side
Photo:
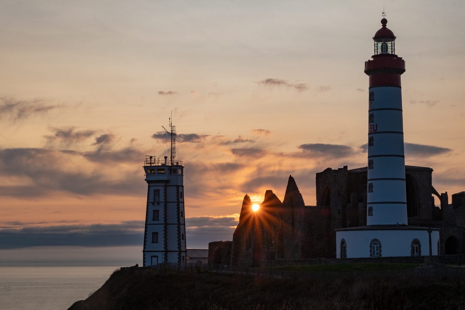
[[[46,105],[42,100],[16,100],[0,98],[0,119],[19,120],[35,115],[45,115],[58,108],[56,105]]]

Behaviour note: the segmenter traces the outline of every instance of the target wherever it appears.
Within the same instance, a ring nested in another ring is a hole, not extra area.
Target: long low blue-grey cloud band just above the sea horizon
[[[0,249],[31,246],[130,246],[142,247],[144,221],[118,224],[59,224],[46,226],[8,227],[0,229]],[[190,247],[207,248],[217,238],[231,240],[236,215],[186,218],[187,241]],[[22,223],[17,223],[20,226]],[[41,223],[35,223],[41,224]]]

